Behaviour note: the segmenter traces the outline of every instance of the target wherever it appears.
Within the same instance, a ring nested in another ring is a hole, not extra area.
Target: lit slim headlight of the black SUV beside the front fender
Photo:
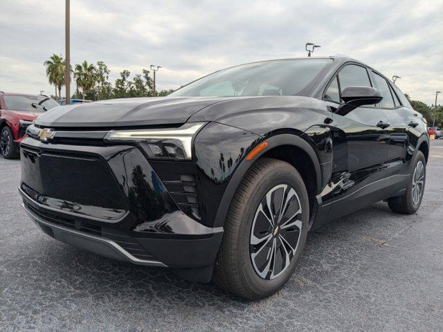
[[[179,128],[111,130],[108,141],[141,142],[150,158],[190,159],[192,138],[205,122],[190,122]]]

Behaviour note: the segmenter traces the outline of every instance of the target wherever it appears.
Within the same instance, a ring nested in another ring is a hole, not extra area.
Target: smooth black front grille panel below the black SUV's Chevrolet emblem
[[[98,154],[25,144],[21,153],[21,181],[39,194],[103,210],[127,209],[116,177]]]

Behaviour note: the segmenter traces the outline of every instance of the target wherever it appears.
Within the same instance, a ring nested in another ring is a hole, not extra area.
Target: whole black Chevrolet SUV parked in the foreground
[[[400,89],[343,56],[48,111],[28,136],[19,190],[43,232],[247,299],[287,282],[309,230],[381,200],[417,211],[429,151]]]

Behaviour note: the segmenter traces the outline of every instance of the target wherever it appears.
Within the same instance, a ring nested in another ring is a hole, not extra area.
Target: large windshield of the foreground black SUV
[[[170,94],[172,97],[299,95],[331,59],[255,62],[210,74]]]

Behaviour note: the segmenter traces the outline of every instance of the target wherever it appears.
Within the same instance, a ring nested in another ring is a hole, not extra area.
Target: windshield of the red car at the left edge
[[[42,95],[3,95],[6,109],[14,111],[48,111],[60,106],[55,100]]]

